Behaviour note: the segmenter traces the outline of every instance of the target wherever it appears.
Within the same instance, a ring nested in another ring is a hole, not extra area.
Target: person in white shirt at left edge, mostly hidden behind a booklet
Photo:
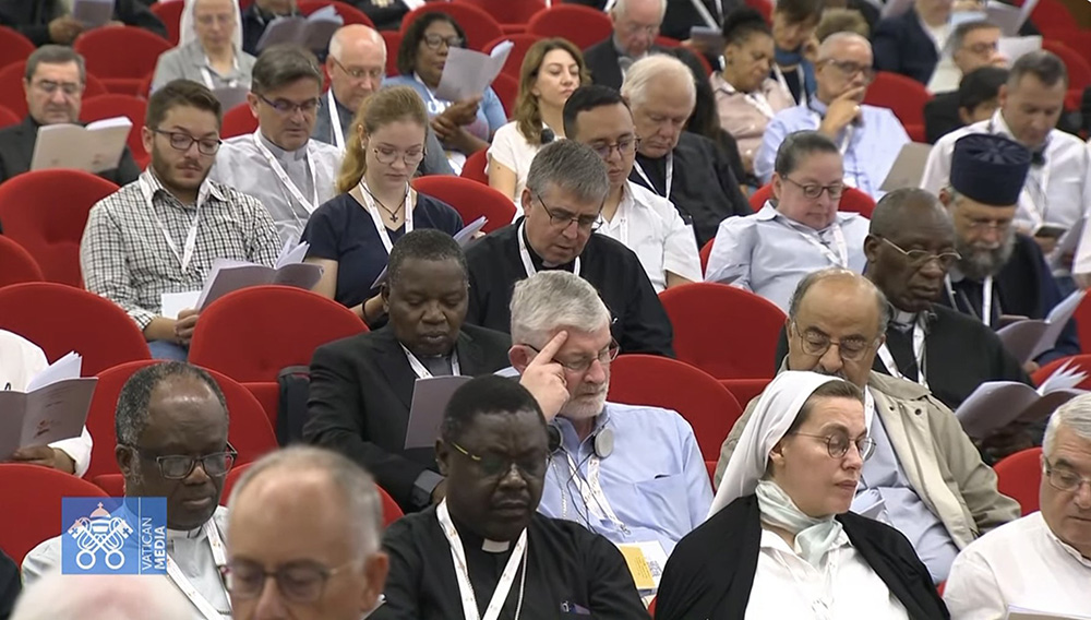
[[[0,330],[0,390],[25,392],[31,380],[48,366],[45,351],[34,343]],[[62,439],[49,445],[21,448],[11,455],[11,461],[83,476],[91,466],[92,448],[91,433],[84,427],[80,437]]]

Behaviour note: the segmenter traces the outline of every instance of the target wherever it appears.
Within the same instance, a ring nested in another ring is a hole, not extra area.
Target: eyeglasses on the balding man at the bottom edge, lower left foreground
[[[329,577],[352,567],[357,560],[351,560],[333,569],[319,562],[300,560],[281,564],[274,571],[266,571],[257,562],[249,560],[232,560],[226,567],[220,567],[220,574],[227,591],[232,596],[243,599],[257,598],[265,589],[268,577],[276,581],[277,589],[292,603],[314,603],[322,598]]]

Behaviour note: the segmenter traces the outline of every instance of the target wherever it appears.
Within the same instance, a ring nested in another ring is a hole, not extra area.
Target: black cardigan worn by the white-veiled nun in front
[[[948,619],[947,607],[909,540],[851,512],[836,517],[852,547],[914,620]],[[667,560],[656,620],[734,620],[746,615],[760,552],[757,496],[739,498],[687,534]]]

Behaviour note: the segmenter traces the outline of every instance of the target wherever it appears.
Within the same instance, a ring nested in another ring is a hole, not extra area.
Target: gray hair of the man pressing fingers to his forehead
[[[610,310],[589,282],[565,271],[538,272],[515,283],[512,341],[546,344],[561,327],[591,333],[610,324]]]

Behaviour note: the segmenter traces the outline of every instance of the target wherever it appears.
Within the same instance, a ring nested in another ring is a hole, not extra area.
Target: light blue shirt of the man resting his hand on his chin
[[[883,198],[879,187],[886,180],[894,160],[909,142],[909,134],[898,117],[887,108],[861,105],[861,120],[841,131],[834,141],[841,146],[844,158],[844,183],[868,194]],[[817,130],[826,115],[826,104],[812,97],[810,104],[777,112],[765,129],[762,145],[754,157],[754,174],[768,183],[777,150],[789,133]]]

